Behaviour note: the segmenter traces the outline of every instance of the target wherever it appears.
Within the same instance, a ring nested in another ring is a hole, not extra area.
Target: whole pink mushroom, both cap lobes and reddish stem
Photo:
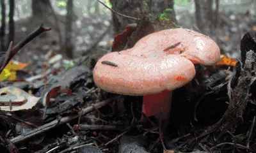
[[[172,91],[195,77],[194,64],[212,65],[220,48],[204,34],[190,29],[166,29],[148,34],[134,47],[104,55],[93,69],[95,84],[104,91],[143,96],[142,112],[170,119]]]

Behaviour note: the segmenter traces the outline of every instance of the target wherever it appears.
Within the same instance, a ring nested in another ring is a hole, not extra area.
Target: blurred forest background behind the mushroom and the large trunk
[[[138,17],[143,11],[159,17],[166,9],[172,22],[210,36],[221,52],[237,58],[239,42],[244,33],[256,31],[255,0],[102,0],[109,8]],[[14,45],[40,24],[52,31],[41,34],[15,56],[29,62],[40,55],[58,52],[73,59],[80,55],[106,54],[116,33],[136,20],[121,17],[97,0],[1,0],[1,52],[10,41]]]

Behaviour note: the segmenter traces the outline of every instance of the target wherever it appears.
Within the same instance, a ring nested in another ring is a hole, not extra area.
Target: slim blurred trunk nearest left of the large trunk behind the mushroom
[[[65,26],[65,53],[68,58],[73,58],[73,45],[72,45],[72,17],[73,17],[73,0],[67,1],[67,17]]]

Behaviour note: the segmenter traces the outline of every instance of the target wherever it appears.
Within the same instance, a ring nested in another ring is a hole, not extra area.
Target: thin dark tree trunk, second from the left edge
[[[14,21],[13,21],[13,15],[15,10],[14,0],[9,0],[10,4],[10,13],[9,13],[9,41],[7,46],[9,46],[11,41],[14,41]]]

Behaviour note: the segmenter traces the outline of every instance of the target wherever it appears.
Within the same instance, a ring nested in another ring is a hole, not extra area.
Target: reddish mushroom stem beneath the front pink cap
[[[160,118],[161,113],[161,128],[164,131],[168,126],[170,119],[170,111],[172,106],[172,91],[163,91],[158,94],[148,94],[143,96],[142,112],[147,117],[154,116]],[[163,111],[161,112],[161,108]],[[143,119],[143,117],[141,118]]]

